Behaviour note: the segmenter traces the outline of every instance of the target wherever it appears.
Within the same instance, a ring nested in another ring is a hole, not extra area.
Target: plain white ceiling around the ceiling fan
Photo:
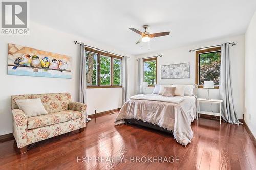
[[[134,55],[243,34],[255,10],[255,0],[30,1],[32,21]],[[150,33],[170,35],[151,39],[148,50],[147,43],[135,44],[140,35],[128,29],[143,31],[144,24]]]

